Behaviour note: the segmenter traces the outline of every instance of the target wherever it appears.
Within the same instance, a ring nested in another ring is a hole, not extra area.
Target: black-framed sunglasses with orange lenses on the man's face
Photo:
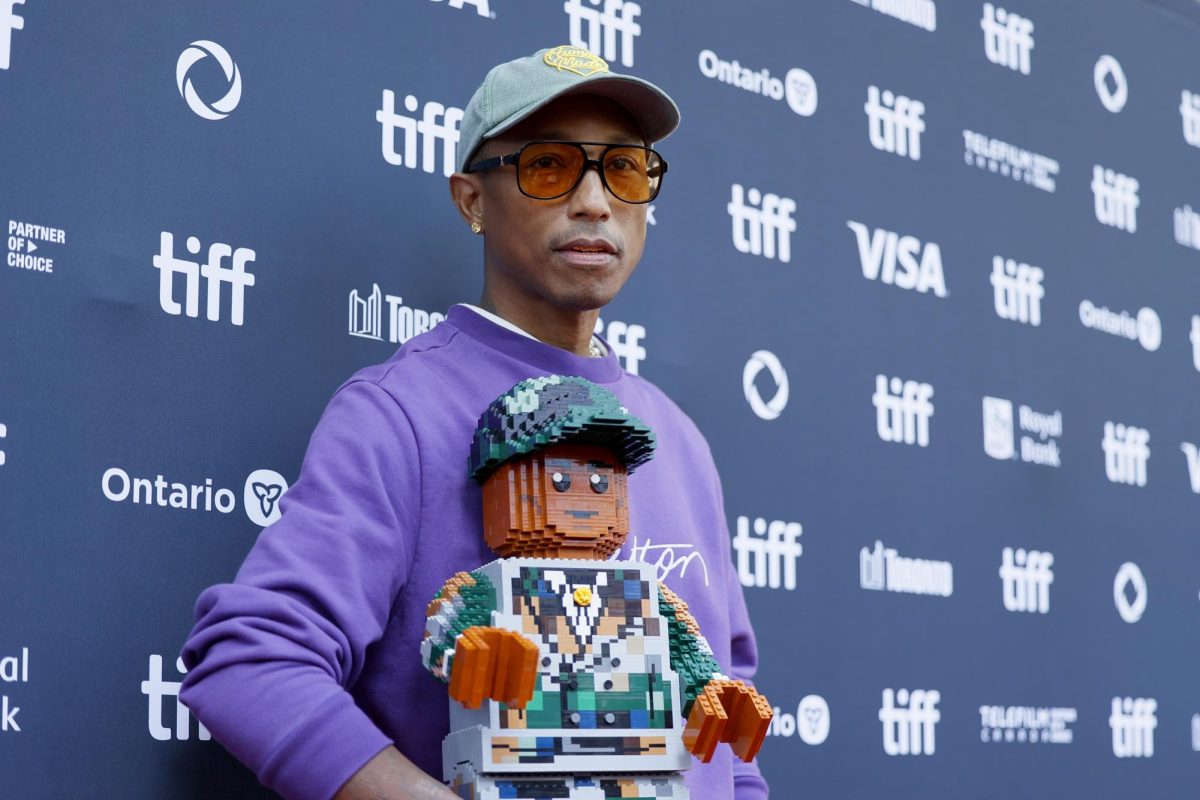
[[[599,158],[588,158],[584,145],[604,148]],[[649,203],[659,196],[667,162],[650,148],[604,142],[530,142],[508,156],[485,158],[467,168],[481,173],[515,166],[517,188],[536,200],[553,200],[570,194],[589,167],[600,173],[600,182],[625,203]]]

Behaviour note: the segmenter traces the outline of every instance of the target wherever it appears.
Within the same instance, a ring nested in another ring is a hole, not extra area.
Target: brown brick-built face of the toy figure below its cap
[[[628,534],[625,467],[606,447],[551,445],[484,483],[484,537],[500,557],[607,559]]]

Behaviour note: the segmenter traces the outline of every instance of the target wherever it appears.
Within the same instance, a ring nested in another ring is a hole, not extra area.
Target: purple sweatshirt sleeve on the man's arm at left
[[[403,410],[354,380],[232,584],[205,590],[180,699],[284,798],[332,796],[390,742],[348,687],[408,576],[420,462]]]

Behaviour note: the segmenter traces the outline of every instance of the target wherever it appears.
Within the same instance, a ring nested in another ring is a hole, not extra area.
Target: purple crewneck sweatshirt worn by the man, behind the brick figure
[[[180,698],[263,783],[330,798],[389,744],[440,778],[449,700],[421,667],[425,609],[455,572],[496,558],[482,541],[480,487],[467,477],[470,438],[515,383],[556,373],[607,386],[654,429],[654,459],[629,481],[618,558],[655,564],[726,673],[754,675],[720,480],[691,420],[611,351],[577,356],[455,306],[337,390],[281,519],[234,583],[196,603]],[[726,745],[692,763],[695,800],[767,798],[757,766]]]

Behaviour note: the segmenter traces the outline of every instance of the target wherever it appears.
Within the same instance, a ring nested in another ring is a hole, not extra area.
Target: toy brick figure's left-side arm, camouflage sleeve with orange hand
[[[514,708],[533,698],[538,645],[515,631],[488,625],[496,589],[479,572],[446,581],[425,612],[421,663],[450,684],[450,697],[475,709],[485,697]]]

